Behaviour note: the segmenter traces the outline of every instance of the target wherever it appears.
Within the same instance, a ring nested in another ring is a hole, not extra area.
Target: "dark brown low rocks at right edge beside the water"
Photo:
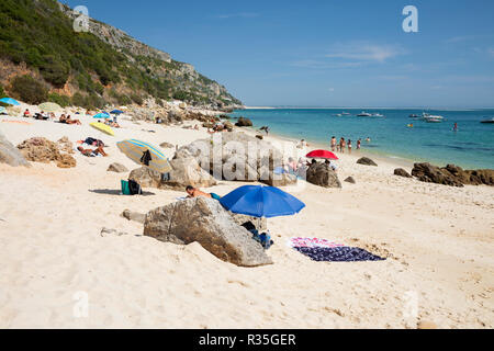
[[[494,185],[494,170],[463,170],[461,167],[448,165],[444,168],[430,163],[415,163],[412,176],[419,181],[450,186]]]

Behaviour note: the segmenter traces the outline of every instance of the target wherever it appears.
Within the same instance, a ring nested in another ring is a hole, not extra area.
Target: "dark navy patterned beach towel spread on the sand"
[[[317,262],[382,261],[379,256],[352,247],[295,247],[295,250]]]

